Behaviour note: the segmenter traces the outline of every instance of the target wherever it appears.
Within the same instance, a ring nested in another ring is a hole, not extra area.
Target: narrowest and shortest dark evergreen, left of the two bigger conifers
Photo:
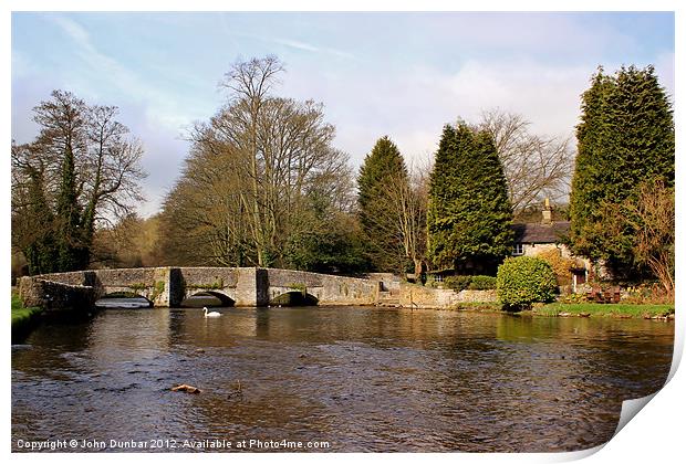
[[[409,182],[407,167],[397,146],[382,137],[364,158],[357,177],[358,218],[373,271],[403,272],[405,267],[402,238],[385,194],[393,182]]]

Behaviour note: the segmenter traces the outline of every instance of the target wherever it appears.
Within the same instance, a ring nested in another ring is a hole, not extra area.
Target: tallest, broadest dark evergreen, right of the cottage
[[[576,139],[570,198],[573,250],[605,260],[617,276],[625,275],[635,263],[636,231],[627,225],[612,236],[604,233],[617,219],[616,207],[635,200],[645,181],[674,186],[672,106],[653,66],[622,67],[613,76],[599,68],[582,95]]]

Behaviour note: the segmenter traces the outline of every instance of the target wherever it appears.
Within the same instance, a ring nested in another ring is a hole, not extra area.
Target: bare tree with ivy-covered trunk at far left
[[[52,261],[55,271],[83,268],[96,222],[128,214],[142,200],[143,149],[115,120],[116,107],[89,106],[69,92],[54,91],[51,96],[33,109],[41,128],[38,137],[12,149],[13,218],[18,224],[30,221],[33,228],[54,232],[54,243],[45,239],[39,246],[44,257],[39,261]],[[38,243],[20,229],[27,228],[14,228],[13,241],[24,243],[24,254],[31,254]]]

